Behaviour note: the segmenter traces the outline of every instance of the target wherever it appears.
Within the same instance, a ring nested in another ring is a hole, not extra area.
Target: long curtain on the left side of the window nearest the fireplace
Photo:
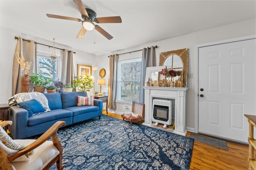
[[[109,57],[108,108],[116,109],[116,74],[118,54]]]

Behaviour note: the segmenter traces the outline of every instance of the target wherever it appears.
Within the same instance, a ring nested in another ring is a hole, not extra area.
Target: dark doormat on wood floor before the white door
[[[191,133],[190,138],[192,138],[195,141],[198,141],[200,143],[205,143],[206,145],[210,145],[210,146],[217,147],[220,149],[228,150],[227,142],[222,139],[208,137],[205,135],[200,135],[198,133]]]

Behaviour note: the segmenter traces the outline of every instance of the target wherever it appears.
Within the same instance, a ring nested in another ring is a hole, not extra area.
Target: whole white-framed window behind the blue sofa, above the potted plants
[[[50,55],[45,51],[37,51],[37,72],[44,77],[58,80],[60,77],[60,55],[56,55],[56,60],[50,59]]]

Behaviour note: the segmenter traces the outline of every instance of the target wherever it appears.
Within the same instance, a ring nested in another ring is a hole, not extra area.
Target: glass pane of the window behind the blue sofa
[[[39,73],[44,77],[56,80],[56,65],[57,60],[52,60],[48,57],[39,57]]]

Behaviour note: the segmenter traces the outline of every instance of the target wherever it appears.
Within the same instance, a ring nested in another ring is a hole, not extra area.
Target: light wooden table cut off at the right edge
[[[248,162],[250,169],[256,170],[256,160],[254,158],[254,149],[256,149],[256,140],[253,136],[254,127],[256,127],[256,116],[255,115],[244,115],[247,117],[249,122],[249,156],[248,156]]]

